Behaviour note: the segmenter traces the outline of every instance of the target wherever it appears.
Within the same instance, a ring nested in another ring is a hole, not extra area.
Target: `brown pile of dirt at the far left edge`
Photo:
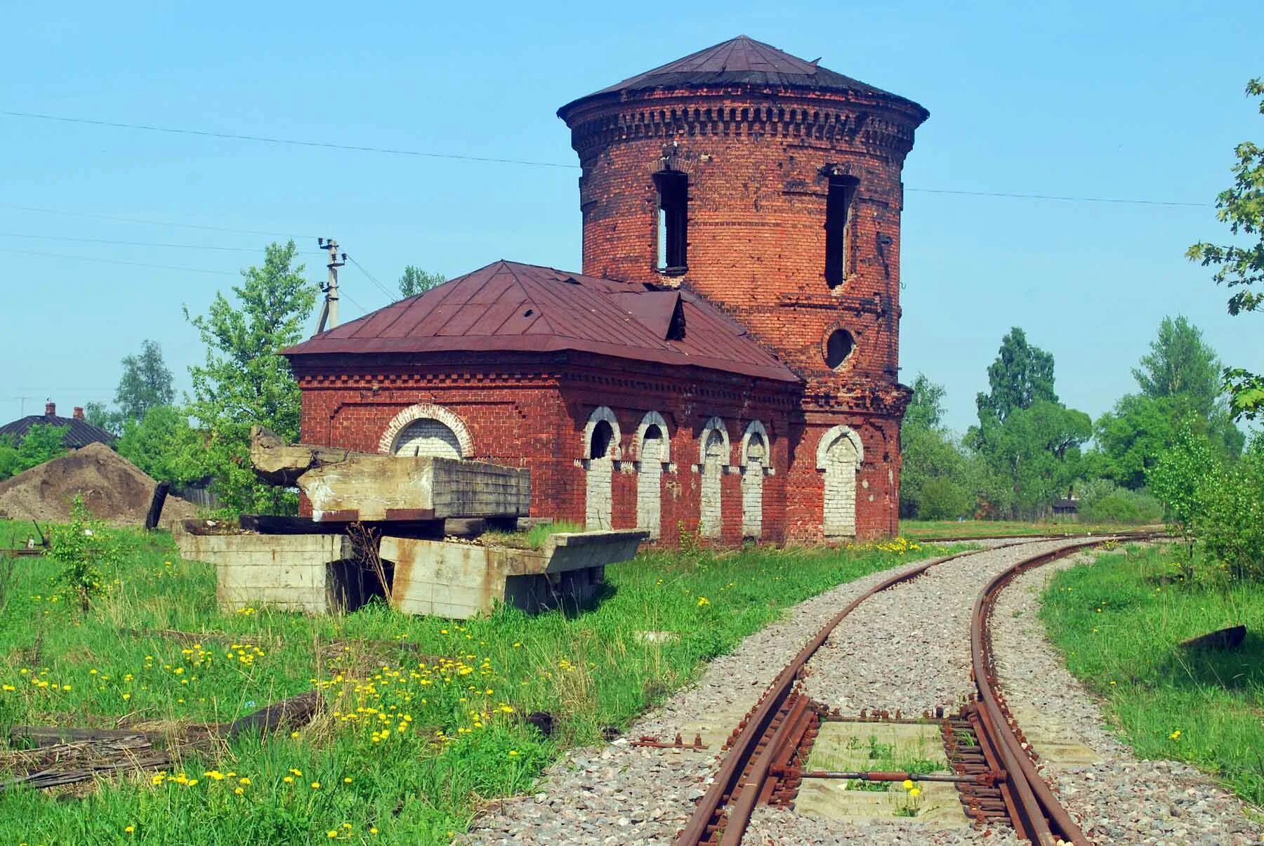
[[[157,486],[105,444],[88,444],[0,482],[0,513],[14,520],[62,522],[70,518],[77,493],[92,516],[115,526],[142,526]],[[191,502],[168,496],[162,524],[196,516]]]

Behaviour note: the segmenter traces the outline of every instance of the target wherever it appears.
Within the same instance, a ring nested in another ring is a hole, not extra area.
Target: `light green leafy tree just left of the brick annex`
[[[190,411],[210,432],[216,492],[236,511],[293,511],[297,505],[293,494],[260,484],[249,460],[252,424],[298,439],[298,383],[277,354],[302,339],[316,305],[316,286],[303,278],[303,266],[292,267],[296,253],[293,242],[269,244],[263,267],[241,271],[241,285],[233,287],[235,303],[216,293],[206,315],[185,309],[206,344],[206,363],[188,368]]]

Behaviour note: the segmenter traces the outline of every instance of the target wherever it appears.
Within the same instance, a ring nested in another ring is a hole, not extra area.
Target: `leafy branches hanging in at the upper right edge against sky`
[[[1248,82],[1246,96],[1260,97],[1259,111],[1264,115],[1264,80]],[[1250,235],[1255,243],[1239,247],[1198,242],[1186,255],[1202,267],[1215,264],[1218,269],[1211,278],[1216,285],[1240,287],[1229,297],[1229,314],[1237,315],[1264,306],[1264,292],[1249,290],[1264,282],[1264,147],[1243,142],[1234,152],[1234,185],[1216,197],[1216,218],[1229,224],[1232,235]],[[1235,419],[1254,420],[1264,411],[1264,376],[1229,367],[1222,377]]]

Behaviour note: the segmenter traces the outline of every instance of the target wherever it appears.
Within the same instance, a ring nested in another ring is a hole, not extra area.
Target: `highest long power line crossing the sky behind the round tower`
[[[95,120],[90,118],[68,118],[64,115],[46,115],[33,111],[10,111],[0,110],[0,115],[9,118],[28,118],[34,120],[52,120],[71,124],[86,124],[92,126],[110,126],[115,129],[139,129],[145,132],[167,133],[174,135],[201,135],[206,138],[225,138],[231,140],[246,140],[246,142],[260,142],[267,144],[289,144],[296,147],[324,147],[329,149],[344,149],[354,150],[360,153],[384,153],[389,156],[413,156],[422,158],[442,158],[442,159],[458,159],[466,162],[485,162],[485,163],[498,163],[498,164],[526,164],[531,167],[554,167],[564,169],[579,169],[578,164],[562,164],[560,162],[537,162],[532,159],[521,158],[498,158],[490,156],[465,156],[461,153],[435,153],[428,150],[412,150],[412,149],[398,149],[391,147],[369,147],[360,144],[339,144],[334,142],[315,142],[315,140],[301,140],[292,138],[272,138],[268,135],[246,135],[236,133],[221,133],[206,129],[186,129],[176,126],[158,126],[153,124],[131,124],[112,120]],[[918,193],[947,193],[958,196],[973,196],[973,197],[1009,197],[1016,200],[1054,200],[1063,202],[1107,202],[1116,205],[1144,205],[1144,206],[1186,206],[1186,207],[1211,207],[1210,202],[1183,202],[1183,201],[1168,201],[1168,200],[1146,200],[1146,199],[1134,199],[1134,197],[1076,197],[1076,196],[1062,196],[1050,193],[1035,193],[1035,192],[1020,192],[1020,191],[957,191],[951,188],[905,188],[910,192]],[[43,211],[34,210],[32,211]],[[72,214],[72,212],[67,212]],[[179,224],[173,224],[179,225]],[[185,224],[187,225],[187,224]],[[198,226],[200,229],[217,229],[215,226]],[[221,231],[248,231],[248,230],[231,230],[225,229]],[[281,233],[250,233],[250,234],[264,234],[264,235],[277,235]],[[287,235],[289,238],[297,238],[297,235]],[[311,238],[311,235],[303,235],[303,238]]]

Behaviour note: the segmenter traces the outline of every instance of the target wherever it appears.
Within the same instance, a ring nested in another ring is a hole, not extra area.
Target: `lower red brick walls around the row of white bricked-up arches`
[[[824,539],[825,473],[817,467],[817,451],[827,432],[846,425],[865,454],[854,479],[856,534],[871,539],[896,529],[899,424],[881,403],[876,412],[834,408],[805,415],[795,384],[598,357],[559,355],[542,367],[501,354],[485,362],[469,357],[464,364],[370,364],[369,357],[296,364],[302,439],[378,451],[402,412],[434,405],[455,417],[453,426],[465,429],[466,458],[531,470],[532,515],[586,524],[586,434],[594,412],[604,408],[616,436],[594,479],[597,489],[609,491],[602,520],[614,529],[637,527],[651,520],[652,502],[660,541],[675,546],[681,530],[699,532],[704,484],[714,486],[718,532],[712,540],[736,545],[756,525],[770,543]],[[757,484],[751,453],[741,470],[743,434],[752,421],[767,432],[760,459],[767,469],[761,469]],[[650,426],[662,436],[650,439],[646,449],[638,431]],[[404,426],[397,434],[407,431]],[[705,463],[704,432],[728,445],[727,451],[712,450],[710,473],[695,469]],[[638,472],[638,464],[655,465],[657,473]],[[656,500],[650,486],[657,488]],[[760,508],[758,521],[752,507]]]

